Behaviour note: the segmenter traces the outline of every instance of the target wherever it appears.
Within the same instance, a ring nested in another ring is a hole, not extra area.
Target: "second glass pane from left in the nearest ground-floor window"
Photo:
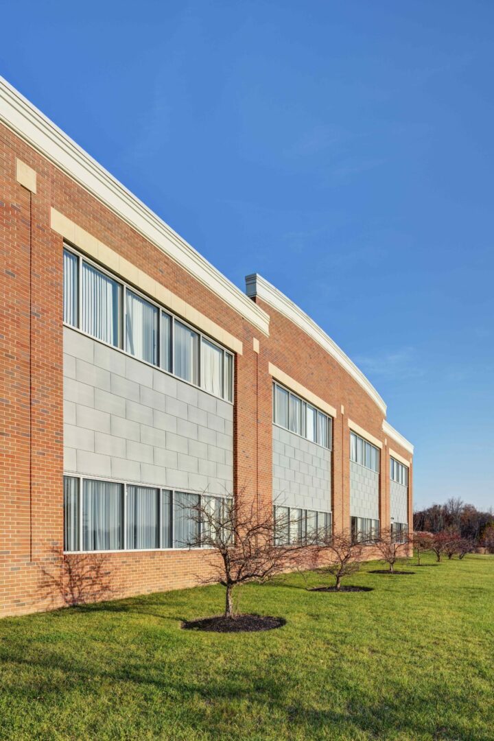
[[[84,551],[117,551],[124,547],[123,485],[84,480],[82,545]]]

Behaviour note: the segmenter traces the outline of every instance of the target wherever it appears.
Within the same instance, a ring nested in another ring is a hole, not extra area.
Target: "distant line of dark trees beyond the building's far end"
[[[480,512],[473,505],[452,497],[444,505],[432,505],[415,512],[413,529],[429,533],[455,530],[462,538],[480,543],[487,534],[493,533],[494,514],[492,510]]]

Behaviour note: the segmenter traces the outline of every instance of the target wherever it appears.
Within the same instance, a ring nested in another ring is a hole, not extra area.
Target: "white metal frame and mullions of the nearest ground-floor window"
[[[177,548],[175,544],[175,495],[177,492],[180,492],[181,494],[194,494],[198,496],[199,502],[201,502],[201,498],[203,496],[207,496],[209,498],[213,499],[219,499],[221,502],[227,502],[230,499],[234,499],[233,496],[218,496],[213,494],[204,494],[204,492],[198,493],[197,491],[184,491],[184,489],[173,489],[169,486],[160,486],[156,485],[153,486],[151,484],[142,484],[140,482],[135,481],[127,481],[126,479],[108,479],[104,476],[86,476],[85,474],[81,473],[71,473],[70,471],[64,471],[63,474],[64,479],[76,479],[77,481],[77,515],[78,515],[78,532],[77,532],[77,538],[78,538],[78,546],[79,548],[76,551],[66,551],[65,550],[65,542],[64,542],[64,554],[67,555],[73,555],[73,554],[133,554],[133,553],[156,553],[157,551],[202,551],[204,550],[204,546],[202,548],[187,548],[187,546],[184,546],[183,548]],[[119,484],[122,487],[122,499],[123,499],[123,508],[122,508],[122,521],[121,526],[124,528],[123,530],[123,548],[114,548],[113,550],[99,550],[99,551],[84,551],[81,550],[81,545],[83,543],[83,527],[82,527],[82,502],[83,502],[83,485],[84,480],[90,480],[90,481],[101,481],[104,483],[110,483],[110,484]],[[127,488],[130,486],[137,486],[141,488],[147,488],[147,489],[154,489],[158,491],[158,539],[159,539],[159,545],[158,548],[127,548]],[[171,512],[171,522],[170,522],[170,538],[171,538],[171,547],[163,546],[163,493],[169,492],[170,493],[170,512]],[[64,496],[64,486],[62,483],[62,496]],[[64,508],[63,508],[64,509]],[[65,534],[65,519],[64,519],[64,534]]]

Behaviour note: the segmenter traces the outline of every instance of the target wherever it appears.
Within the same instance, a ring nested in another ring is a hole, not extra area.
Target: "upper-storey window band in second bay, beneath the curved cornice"
[[[273,383],[273,422],[324,448],[331,448],[331,417],[278,383]]]

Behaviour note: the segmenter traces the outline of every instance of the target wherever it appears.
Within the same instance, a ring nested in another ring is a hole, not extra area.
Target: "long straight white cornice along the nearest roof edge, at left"
[[[269,316],[0,76],[0,121],[258,330]]]

